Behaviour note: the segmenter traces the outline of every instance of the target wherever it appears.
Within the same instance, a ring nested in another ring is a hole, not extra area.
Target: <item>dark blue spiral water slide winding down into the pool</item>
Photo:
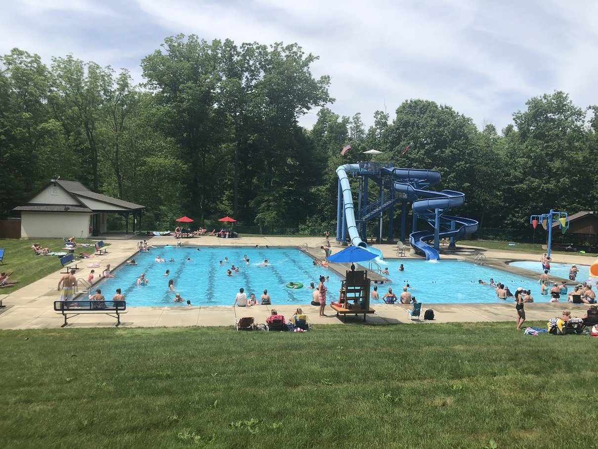
[[[435,226],[437,209],[449,210],[451,207],[462,205],[465,201],[465,194],[454,190],[432,192],[415,187],[421,184],[431,186],[438,183],[440,173],[435,170],[383,168],[382,171],[392,175],[395,179],[393,184],[395,191],[404,193],[407,199],[413,201],[411,206],[413,211],[419,218],[430,223],[432,227]],[[420,197],[423,199],[417,199]],[[461,238],[478,230],[478,222],[475,220],[444,214],[440,215],[438,225],[438,238]],[[438,260],[440,258],[438,251],[426,243],[432,239],[434,239],[434,231],[429,230],[416,231],[409,236],[411,246],[422,251],[426,255],[426,260]]]

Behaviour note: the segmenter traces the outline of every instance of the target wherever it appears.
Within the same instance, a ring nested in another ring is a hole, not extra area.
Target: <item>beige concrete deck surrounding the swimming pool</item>
[[[110,263],[112,267],[117,267],[126,262],[134,256],[137,248],[137,242],[142,239],[148,239],[152,245],[172,245],[175,239],[165,236],[139,236],[134,239],[104,239],[110,243],[108,253],[103,256],[96,256],[93,259],[84,259],[80,266],[82,269],[77,271],[77,278],[87,279],[91,268],[87,268],[88,262],[100,263],[100,270]],[[314,257],[322,259],[324,257],[323,251],[320,247],[324,244],[324,239],[321,237],[241,237],[237,239],[222,239],[210,236],[203,236],[201,238],[182,239],[183,245],[191,246],[246,246],[255,247],[260,245],[264,247],[269,245],[271,247],[299,247],[307,244],[307,252]],[[343,249],[341,245],[332,242],[333,252]],[[463,243],[466,243],[464,241]],[[396,256],[396,244],[375,244],[377,248],[382,250],[385,258],[405,259],[410,258],[420,259],[419,256],[414,256],[409,253],[409,248],[406,248],[407,256]],[[505,262],[511,260],[538,260],[538,254],[519,253],[515,251],[496,251],[486,248],[476,248],[468,245],[461,245],[457,250],[451,251],[446,247],[441,248],[441,257],[443,259],[466,259],[473,261],[475,256],[483,254],[486,259],[486,264],[494,266],[495,268],[504,269],[517,274],[529,275],[529,272],[514,267],[505,265]],[[578,265],[590,265],[594,262],[593,257],[578,256],[572,254],[557,254],[553,257],[554,262],[560,263],[576,263]],[[331,265],[332,266],[332,265]],[[342,266],[333,266],[338,271],[342,271]],[[97,268],[96,268],[97,270]],[[118,273],[117,273],[118,275]],[[53,301],[59,299],[59,292],[56,287],[62,275],[60,271],[56,271],[47,277],[44,277],[35,283],[22,287],[16,292],[9,295],[0,295],[3,304],[6,307],[0,309],[0,329],[45,329],[57,328],[62,326],[64,320],[62,315],[53,310]],[[582,280],[584,274],[579,275]],[[570,283],[570,281],[569,281]],[[330,289],[334,292],[334,287]],[[110,299],[112,292],[106,295]],[[334,295],[330,295],[328,303],[334,301]],[[231,298],[231,304],[234,298]],[[399,324],[399,323],[417,323],[418,321],[411,321],[408,318],[407,310],[411,309],[409,305],[389,305],[389,304],[371,304],[371,307],[376,310],[375,314],[368,315],[368,323],[377,324]],[[232,306],[191,306],[191,307],[130,307],[128,312],[121,317],[121,326],[123,327],[170,327],[170,326],[233,326],[235,318],[252,316],[263,323],[266,321],[270,310],[276,310],[285,316],[291,318],[294,314],[297,305],[277,305],[270,306],[258,305],[251,308],[238,308]],[[313,324],[343,324],[341,318],[337,318],[334,311],[327,305],[325,313],[327,317],[318,317],[318,307],[312,305],[301,305],[304,313],[309,315],[310,321]],[[434,321],[426,321],[426,323],[472,323],[472,322],[492,322],[492,321],[512,321],[515,323],[515,307],[509,301],[506,303],[491,303],[491,304],[431,304],[429,307],[425,301],[423,309],[432,308],[434,310]],[[526,304],[527,320],[548,320],[557,315],[563,308],[568,308],[573,315],[583,315],[587,310],[587,305],[573,305],[564,302],[560,303],[531,303]],[[422,314],[423,315],[423,314]],[[347,323],[362,323],[363,315],[355,317],[355,315],[347,315]],[[419,321],[423,323],[422,321]],[[69,318],[68,327],[110,327],[114,326],[115,318],[103,314],[93,315],[78,315],[77,317]]]

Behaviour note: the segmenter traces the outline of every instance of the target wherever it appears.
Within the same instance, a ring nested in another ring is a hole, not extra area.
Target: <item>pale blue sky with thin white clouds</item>
[[[19,47],[128,68],[179,33],[235,43],[294,43],[330,75],[335,113],[392,119],[410,98],[499,130],[554,90],[598,104],[594,0],[0,0],[0,52]],[[316,115],[301,120],[310,127]]]

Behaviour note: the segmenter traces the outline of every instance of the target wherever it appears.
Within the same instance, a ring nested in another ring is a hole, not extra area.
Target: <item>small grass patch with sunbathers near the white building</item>
[[[94,240],[78,239],[78,243],[89,243],[93,245]],[[4,265],[0,265],[0,271],[14,271],[11,281],[19,280],[18,284],[0,289],[0,295],[8,294],[19,290],[21,287],[35,282],[48,274],[62,269],[60,259],[57,256],[37,256],[33,253],[31,245],[39,243],[55,253],[64,252],[65,244],[62,238],[40,238],[35,240],[0,239],[0,248],[5,249]],[[108,246],[108,244],[106,244]],[[75,249],[75,254],[93,254],[93,247],[80,247]]]

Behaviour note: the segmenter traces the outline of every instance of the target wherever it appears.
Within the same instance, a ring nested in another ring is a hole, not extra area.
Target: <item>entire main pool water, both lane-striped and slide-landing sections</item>
[[[154,262],[156,256],[173,262]],[[248,256],[249,264],[243,260]],[[228,260],[225,259],[228,257]],[[186,262],[187,258],[192,259]],[[251,293],[260,299],[264,289],[268,290],[272,304],[309,304],[312,301],[312,289],[289,289],[289,282],[308,286],[317,285],[320,275],[328,275],[328,302],[338,298],[341,277],[331,270],[314,266],[312,258],[297,248],[247,248],[247,247],[160,247],[152,248],[149,253],[135,256],[139,265],[125,265],[114,272],[115,278],[103,281],[97,287],[102,289],[106,298],[114,295],[120,288],[127,299],[127,306],[164,306],[185,305],[174,302],[175,293],[180,293],[193,305],[232,305],[239,288],[243,287],[247,296]],[[264,259],[269,263],[264,266]],[[222,260],[222,266],[220,261]],[[403,263],[405,271],[399,272]],[[239,272],[227,275],[232,265],[239,267]],[[364,262],[367,266],[367,262]],[[512,292],[517,287],[531,289],[537,302],[547,298],[539,295],[537,278],[514,275],[489,266],[475,265],[464,260],[440,260],[426,262],[423,259],[395,259],[382,262],[388,266],[392,282],[379,284],[380,297],[392,287],[398,296],[402,287],[409,283],[411,293],[420,302],[432,304],[492,303],[502,302],[496,297],[495,289],[489,285],[478,284],[478,279],[489,282],[490,278],[509,286]],[[164,275],[166,270],[169,275]],[[145,273],[149,284],[138,286],[139,274]],[[175,292],[168,289],[169,279],[174,280]],[[373,285],[372,285],[373,287]],[[378,301],[380,303],[382,301]],[[376,304],[376,301],[372,301]]]

